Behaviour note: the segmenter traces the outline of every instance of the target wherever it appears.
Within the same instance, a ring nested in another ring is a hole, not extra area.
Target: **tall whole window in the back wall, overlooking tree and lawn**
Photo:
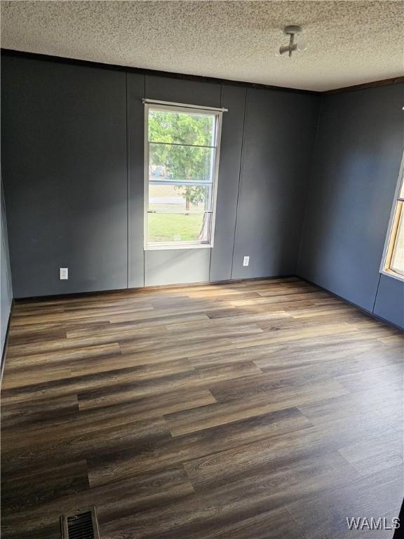
[[[145,107],[144,246],[210,247],[222,112]]]

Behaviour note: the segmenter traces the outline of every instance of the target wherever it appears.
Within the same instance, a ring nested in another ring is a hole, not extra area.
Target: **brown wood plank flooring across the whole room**
[[[295,278],[18,302],[4,539],[391,539],[403,335]],[[404,523],[403,523],[404,524]]]

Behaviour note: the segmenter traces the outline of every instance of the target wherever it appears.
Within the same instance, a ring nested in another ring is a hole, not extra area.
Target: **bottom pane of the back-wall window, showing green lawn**
[[[148,213],[148,244],[172,241],[206,243],[210,237],[211,213]]]

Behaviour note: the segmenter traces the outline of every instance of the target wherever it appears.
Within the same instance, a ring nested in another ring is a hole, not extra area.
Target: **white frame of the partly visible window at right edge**
[[[396,192],[394,194],[393,207],[391,209],[389,228],[387,230],[386,241],[384,243],[382,264],[380,265],[380,273],[388,275],[393,279],[404,281],[404,274],[391,270],[391,260],[393,259],[394,251],[396,250],[396,238],[398,234],[398,225],[400,220],[404,219],[404,198],[400,197],[401,187],[404,182],[404,154],[401,159],[400,173],[398,174],[398,182]]]

